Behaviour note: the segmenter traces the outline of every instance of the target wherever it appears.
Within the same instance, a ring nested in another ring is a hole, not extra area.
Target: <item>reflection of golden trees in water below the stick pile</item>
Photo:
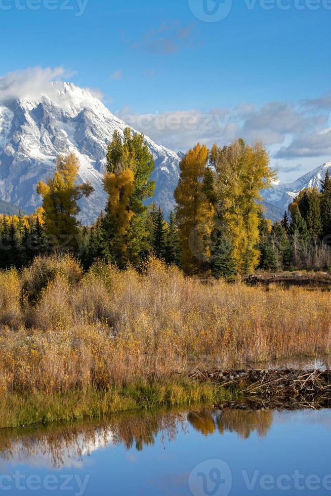
[[[252,432],[259,437],[265,437],[273,421],[271,410],[222,410],[217,413],[211,411],[190,412],[188,421],[195,430],[204,436],[213,434],[218,429],[221,434],[224,431],[236,432],[239,437],[247,439]]]

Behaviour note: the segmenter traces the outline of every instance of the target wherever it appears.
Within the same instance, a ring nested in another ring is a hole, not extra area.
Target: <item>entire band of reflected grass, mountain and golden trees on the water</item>
[[[246,439],[253,432],[266,436],[272,422],[271,410],[136,412],[102,422],[0,430],[0,457],[11,465],[79,468],[98,449],[122,444],[142,451],[156,438],[174,441],[189,426],[203,436],[231,431]]]

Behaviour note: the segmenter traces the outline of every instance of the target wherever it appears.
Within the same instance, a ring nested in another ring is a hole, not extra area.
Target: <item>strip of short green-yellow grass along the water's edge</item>
[[[46,395],[7,392],[0,397],[0,428],[101,417],[112,412],[161,406],[191,406],[231,399],[222,387],[189,380],[135,382],[106,392],[92,389]]]

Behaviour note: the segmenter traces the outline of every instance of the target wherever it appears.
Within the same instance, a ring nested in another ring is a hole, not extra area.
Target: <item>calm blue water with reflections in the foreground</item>
[[[331,410],[172,411],[0,431],[7,494],[331,495]]]

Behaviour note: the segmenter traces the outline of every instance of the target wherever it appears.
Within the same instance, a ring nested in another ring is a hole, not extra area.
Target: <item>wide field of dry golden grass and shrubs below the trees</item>
[[[151,260],[139,274],[70,257],[0,272],[0,393],[109,390],[199,365],[331,349],[331,293],[201,282]],[[175,387],[175,386],[174,386]]]

